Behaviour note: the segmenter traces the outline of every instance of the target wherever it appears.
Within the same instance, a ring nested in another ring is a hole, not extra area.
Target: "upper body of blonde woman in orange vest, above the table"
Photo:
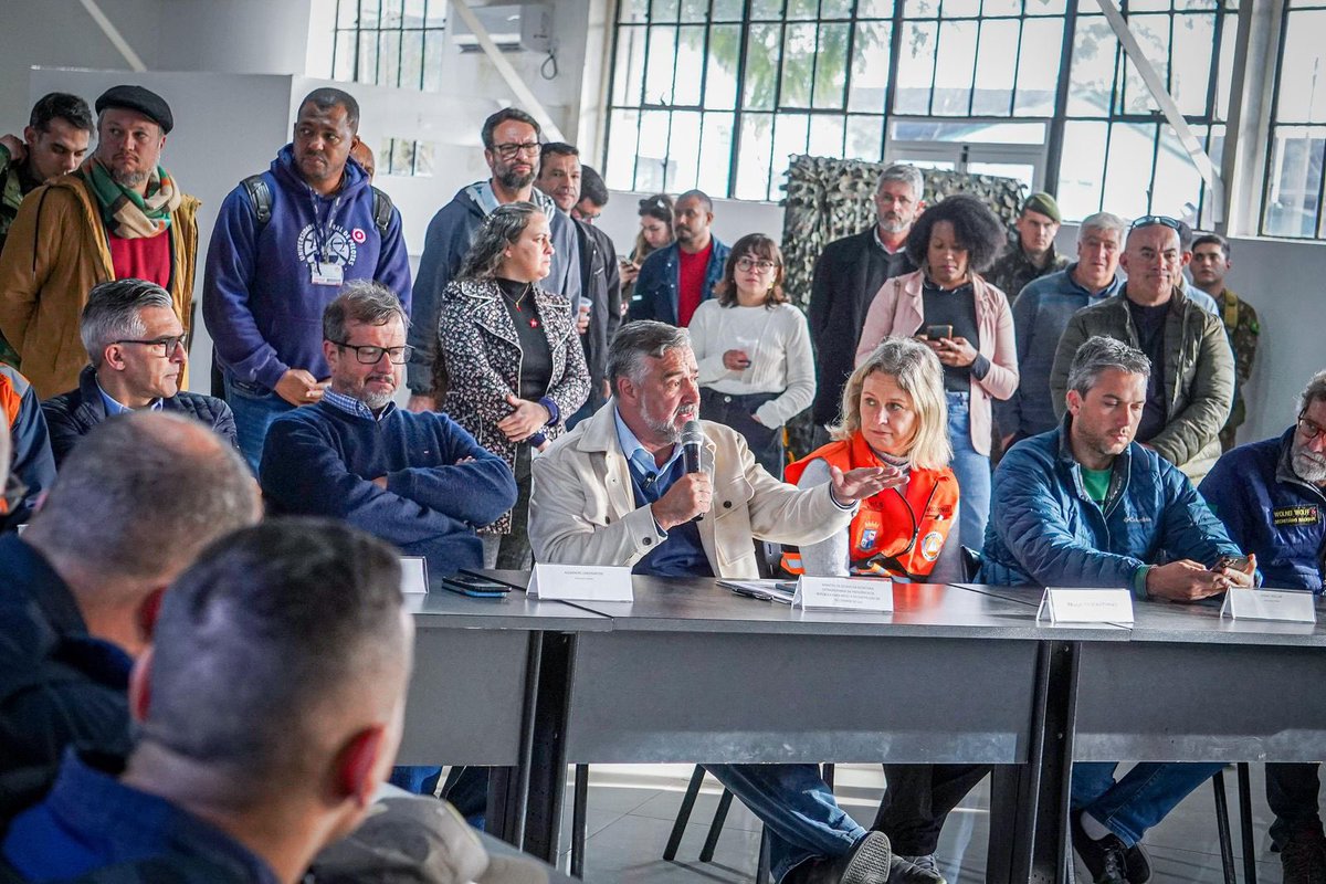
[[[904,482],[862,501],[845,533],[784,555],[784,567],[815,577],[961,580],[944,372],[931,349],[884,338],[847,379],[842,421],[830,433],[835,441],[788,467],[786,481],[813,488],[829,481],[830,467],[884,465],[903,470]]]

